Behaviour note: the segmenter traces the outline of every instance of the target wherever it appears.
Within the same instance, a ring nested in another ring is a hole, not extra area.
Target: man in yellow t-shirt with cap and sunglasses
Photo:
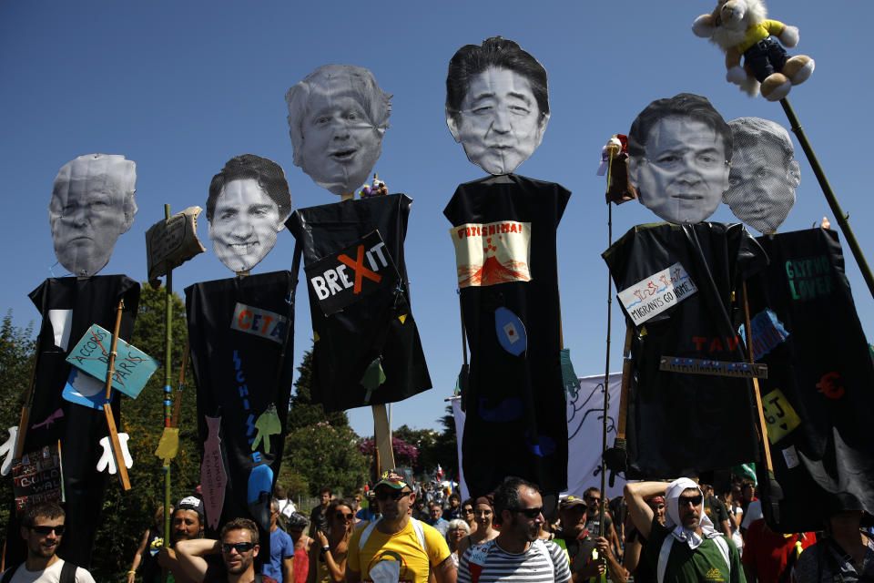
[[[374,488],[381,518],[356,530],[349,541],[347,583],[455,583],[446,540],[433,527],[410,517],[416,499],[401,474],[382,474]]]

